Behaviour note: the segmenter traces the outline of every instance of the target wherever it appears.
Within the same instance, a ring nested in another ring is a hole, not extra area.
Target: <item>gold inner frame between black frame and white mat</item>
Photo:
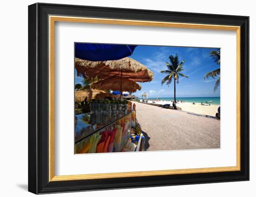
[[[208,173],[208,172],[231,172],[240,171],[240,26],[229,25],[205,25],[190,23],[172,23],[142,20],[124,20],[124,19],[99,19],[49,15],[49,181],[70,181],[99,178],[124,178],[124,177],[143,177],[157,175]],[[54,22],[79,22],[79,23],[97,23],[97,24],[115,24],[115,25],[141,25],[141,26],[159,26],[175,27],[188,29],[210,29],[210,30],[229,30],[236,31],[236,166],[230,167],[212,167],[195,168],[179,170],[160,170],[160,171],[142,171],[142,172],[118,172],[101,174],[81,174],[81,175],[54,175]]]

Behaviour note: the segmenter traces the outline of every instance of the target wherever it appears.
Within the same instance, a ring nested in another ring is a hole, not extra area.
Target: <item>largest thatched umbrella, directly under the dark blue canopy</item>
[[[134,82],[150,82],[153,72],[136,60],[125,57],[119,60],[92,62],[75,58],[75,68],[78,75],[84,77],[124,77]]]

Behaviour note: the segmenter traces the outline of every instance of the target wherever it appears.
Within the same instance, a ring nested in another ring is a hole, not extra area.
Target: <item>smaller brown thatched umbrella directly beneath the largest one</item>
[[[120,84],[121,83],[121,84]],[[108,77],[106,79],[101,79],[97,82],[92,83],[91,88],[93,89],[102,89],[102,90],[120,90],[122,86],[122,91],[136,92],[137,89],[141,90],[141,85],[138,83],[131,81],[127,78],[122,78],[120,82],[120,78],[117,77]]]

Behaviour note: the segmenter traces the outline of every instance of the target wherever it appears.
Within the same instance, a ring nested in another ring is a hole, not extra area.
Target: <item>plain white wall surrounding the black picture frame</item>
[[[36,1],[1,1],[0,6],[0,194],[1,196],[32,196],[27,192],[27,5]],[[252,0],[45,0],[48,3],[112,6],[195,13],[216,13],[250,16],[250,54],[256,53],[256,13]],[[251,58],[250,73],[256,72],[256,60]],[[250,181],[169,186],[142,189],[77,192],[72,196],[130,197],[145,196],[255,196],[256,130],[253,101],[256,93],[250,80]],[[70,196],[70,193],[58,196]],[[52,195],[53,196],[53,195]],[[57,195],[56,195],[57,196]]]

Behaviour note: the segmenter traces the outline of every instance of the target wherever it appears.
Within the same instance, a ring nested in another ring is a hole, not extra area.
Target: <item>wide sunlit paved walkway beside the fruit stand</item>
[[[135,103],[147,151],[220,148],[219,120]]]

